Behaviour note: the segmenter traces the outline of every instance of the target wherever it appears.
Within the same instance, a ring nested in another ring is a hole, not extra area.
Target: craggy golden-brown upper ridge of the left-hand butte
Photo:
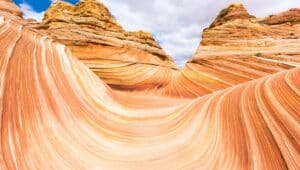
[[[101,1],[82,0],[76,5],[64,1],[54,2],[45,12],[43,21],[34,26],[67,45],[129,46],[169,61],[175,67],[171,57],[150,33],[124,30]]]

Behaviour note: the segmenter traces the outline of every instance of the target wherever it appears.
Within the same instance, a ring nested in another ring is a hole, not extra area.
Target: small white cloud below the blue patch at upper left
[[[41,21],[44,17],[44,12],[36,12],[29,4],[23,2],[20,4],[20,8],[23,12],[23,17],[26,19],[35,19]]]

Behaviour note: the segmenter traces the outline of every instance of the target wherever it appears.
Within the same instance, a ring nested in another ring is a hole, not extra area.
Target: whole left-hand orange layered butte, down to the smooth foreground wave
[[[151,34],[125,31],[97,0],[81,0],[76,5],[55,2],[41,23],[27,25],[65,44],[115,88],[164,86],[178,72]]]

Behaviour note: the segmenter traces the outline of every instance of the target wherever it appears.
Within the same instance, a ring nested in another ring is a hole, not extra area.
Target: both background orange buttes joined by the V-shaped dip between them
[[[195,98],[298,67],[299,23],[297,8],[256,18],[232,4],[205,29],[182,71],[150,34],[126,32],[99,1],[59,1],[41,23],[26,25],[65,44],[113,89]]]

